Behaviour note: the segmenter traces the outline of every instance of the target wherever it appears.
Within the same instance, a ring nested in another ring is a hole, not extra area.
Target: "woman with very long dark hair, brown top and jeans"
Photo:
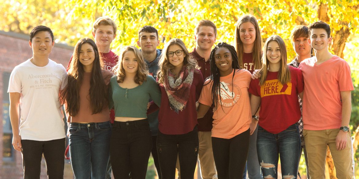
[[[71,165],[75,179],[103,179],[109,160],[111,123],[108,84],[112,73],[102,69],[92,39],[84,38],[75,46],[67,72],[65,102]]]

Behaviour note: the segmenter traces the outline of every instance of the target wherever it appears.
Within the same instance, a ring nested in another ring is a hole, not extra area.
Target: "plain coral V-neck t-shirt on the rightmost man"
[[[342,118],[340,92],[354,90],[350,67],[338,56],[319,65],[316,62],[316,57],[308,58],[298,67],[304,78],[304,129],[339,129]]]

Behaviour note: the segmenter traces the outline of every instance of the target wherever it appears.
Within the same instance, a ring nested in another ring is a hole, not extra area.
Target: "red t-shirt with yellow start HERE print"
[[[272,134],[278,134],[295,124],[300,118],[298,94],[304,89],[303,74],[289,66],[291,80],[282,85],[278,72],[268,72],[266,82],[259,86],[259,79],[251,81],[249,92],[261,97],[258,124]]]

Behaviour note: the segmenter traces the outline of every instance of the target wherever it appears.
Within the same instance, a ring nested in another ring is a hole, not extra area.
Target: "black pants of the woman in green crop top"
[[[147,119],[113,122],[110,138],[110,160],[115,179],[145,179],[152,149]]]

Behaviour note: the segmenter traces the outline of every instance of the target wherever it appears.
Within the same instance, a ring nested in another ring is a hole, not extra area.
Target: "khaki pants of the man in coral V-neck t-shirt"
[[[309,161],[309,175],[311,179],[325,179],[327,147],[329,147],[333,157],[337,178],[354,178],[351,132],[348,132],[347,143],[344,150],[336,149],[336,136],[338,133],[339,129],[303,131]]]

